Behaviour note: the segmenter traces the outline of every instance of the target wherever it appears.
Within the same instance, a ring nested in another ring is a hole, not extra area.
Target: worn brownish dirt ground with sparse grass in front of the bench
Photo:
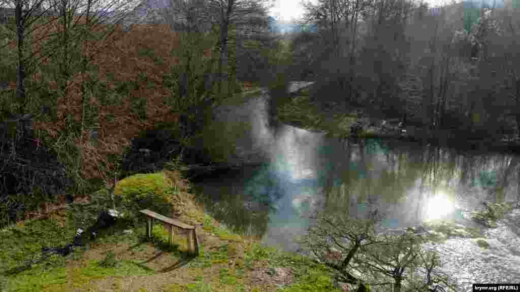
[[[107,276],[73,291],[186,291],[188,285],[206,284],[212,291],[238,291],[238,286],[243,291],[276,291],[293,281],[290,268],[272,267],[267,260],[255,261],[245,268],[246,249],[251,246],[249,241],[223,240],[204,230],[199,234],[199,241],[204,251],[198,258],[190,259],[163,251],[148,242],[125,241],[93,246],[85,251],[81,261],[71,261],[67,267],[72,269],[92,260],[101,261],[108,251],[112,251],[117,261],[139,264],[150,269],[151,274]],[[223,273],[227,274],[223,276]]]

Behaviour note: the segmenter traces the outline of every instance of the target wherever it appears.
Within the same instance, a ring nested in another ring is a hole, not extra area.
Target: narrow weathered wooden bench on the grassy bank
[[[186,236],[186,243],[188,244],[188,250],[191,251],[195,256],[199,255],[199,240],[197,238],[197,229],[191,225],[185,224],[183,222],[177,221],[175,219],[163,216],[161,214],[155,213],[154,211],[150,211],[148,209],[140,210],[140,213],[147,216],[147,224],[146,224],[146,236],[150,238],[152,236],[152,227],[154,219],[162,221],[164,223],[170,224],[170,237],[168,237],[168,242],[173,243],[174,231],[173,227],[176,226],[180,229],[188,230],[188,234]],[[193,238],[193,240],[191,239]]]

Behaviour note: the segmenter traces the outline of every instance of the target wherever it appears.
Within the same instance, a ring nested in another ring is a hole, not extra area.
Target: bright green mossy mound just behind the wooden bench
[[[179,201],[176,193],[172,180],[164,172],[136,174],[115,185],[114,201],[118,202],[123,212],[131,218],[142,209],[172,216],[174,203]]]

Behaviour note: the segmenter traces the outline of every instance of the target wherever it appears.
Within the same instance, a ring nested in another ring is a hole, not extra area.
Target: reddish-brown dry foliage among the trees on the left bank
[[[35,33],[42,36],[54,32],[56,32],[56,23],[49,23]],[[178,63],[178,60],[171,57],[171,51],[178,46],[178,42],[176,34],[170,32],[166,25],[143,25],[134,28],[131,33],[123,33],[121,29],[115,30],[105,42],[95,46],[106,49],[95,55],[92,51],[89,52],[93,68],[98,69],[96,79],[108,90],[113,90],[118,83],[138,86],[129,90],[127,96],[122,96],[121,102],[113,105],[101,106],[99,97],[88,97],[89,104],[97,107],[96,124],[99,125],[99,129],[97,147],[92,147],[88,142],[87,129],[83,130],[81,137],[74,139],[74,143],[82,149],[84,178],[105,178],[115,167],[107,163],[106,155],[121,153],[122,148],[128,145],[140,131],[161,122],[178,122],[178,113],[172,113],[171,109],[163,104],[164,96],[170,93],[167,88],[163,89],[160,86],[162,75],[167,73],[172,65]],[[39,48],[34,46],[33,49]],[[142,49],[152,51],[153,56],[144,56]],[[156,63],[152,57],[160,58],[162,64]],[[148,84],[143,84],[140,76],[146,76]],[[67,116],[71,116],[75,123],[81,123],[81,84],[85,81],[85,76],[79,73],[73,75],[66,89],[67,94],[57,100],[58,122],[35,123],[35,129],[45,130],[49,136],[58,137],[66,128]],[[154,86],[149,86],[150,84]],[[56,83],[49,84],[49,89],[56,90]],[[132,101],[142,97],[146,98],[146,120],[140,120],[131,111]],[[108,116],[111,116],[110,121]]]

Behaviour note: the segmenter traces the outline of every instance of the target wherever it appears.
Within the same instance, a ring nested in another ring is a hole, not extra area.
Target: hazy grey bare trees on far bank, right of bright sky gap
[[[291,77],[318,82],[316,98],[347,111],[406,115],[463,139],[511,139],[520,122],[518,23],[516,1],[309,3],[303,32],[291,38]]]

